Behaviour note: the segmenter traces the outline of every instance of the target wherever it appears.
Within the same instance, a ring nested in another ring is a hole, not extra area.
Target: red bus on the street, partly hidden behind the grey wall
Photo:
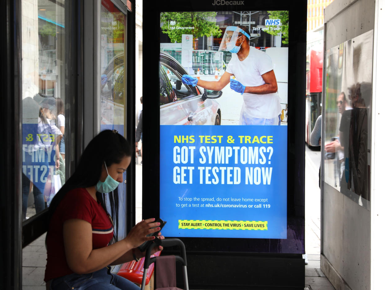
[[[310,133],[322,109],[323,49],[313,47],[306,54],[305,142],[310,147]]]

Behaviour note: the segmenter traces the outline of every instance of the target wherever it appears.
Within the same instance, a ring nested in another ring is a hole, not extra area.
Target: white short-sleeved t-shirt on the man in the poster
[[[238,55],[233,53],[226,68],[234,74],[237,81],[244,86],[261,86],[265,84],[262,75],[273,69],[271,58],[263,51],[250,47],[249,55],[239,61]],[[281,99],[278,93],[243,95],[242,112],[249,118],[278,118],[281,113]]]

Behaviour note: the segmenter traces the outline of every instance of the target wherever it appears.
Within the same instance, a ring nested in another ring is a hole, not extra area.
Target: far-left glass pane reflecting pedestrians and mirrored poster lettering
[[[64,0],[22,1],[22,215],[65,182]]]

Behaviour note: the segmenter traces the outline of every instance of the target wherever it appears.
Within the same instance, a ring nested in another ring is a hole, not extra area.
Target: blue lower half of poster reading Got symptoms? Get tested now
[[[161,125],[160,136],[160,216],[167,221],[162,234],[181,237],[286,239],[287,126]],[[220,143],[218,136],[223,136]],[[231,139],[228,142],[229,136]],[[254,143],[245,143],[245,138],[240,136],[250,136],[250,141],[254,140]],[[176,146],[179,149],[175,148]],[[186,148],[182,149],[183,146]],[[204,163],[200,162],[201,147],[206,147],[204,149],[206,152],[203,151],[203,155],[206,156]],[[232,154],[228,158],[228,163],[224,158],[225,164],[221,162],[215,164],[213,158],[210,164],[207,151],[220,152],[221,147],[224,147],[223,152],[228,150],[228,153]],[[226,147],[229,148],[226,149]],[[239,147],[239,149],[235,150],[233,147]],[[271,149],[273,149],[272,152]],[[256,150],[254,153],[258,152],[258,164],[253,164],[254,158],[251,160],[246,158],[246,164],[242,164],[242,150],[243,152]],[[180,152],[188,155],[182,156]],[[193,158],[191,152],[193,152]],[[184,176],[181,176],[182,167],[186,167]],[[188,167],[190,169],[187,169]],[[199,170],[198,167],[204,167],[204,169]],[[208,184],[206,184],[206,167],[211,167],[207,171],[210,173]],[[221,178],[222,171],[219,170],[218,179],[215,180],[211,171],[213,167],[226,168],[222,170],[224,184]],[[239,184],[234,184],[235,167],[239,168]],[[256,167],[259,167],[257,171],[254,169]],[[228,178],[229,168],[232,176]],[[254,180],[255,175],[253,175],[251,178],[253,184],[250,184],[250,179],[246,178],[246,169],[251,169],[250,171],[253,174],[255,172],[257,176],[260,172],[260,178]],[[262,171],[265,173],[266,170],[267,174],[271,174],[271,179],[263,180],[263,175],[266,174],[262,174]],[[182,179],[186,183],[178,183]],[[218,183],[214,184],[212,181]],[[202,201],[203,198],[209,200]],[[267,230],[183,229],[179,226],[179,220],[266,221]]]

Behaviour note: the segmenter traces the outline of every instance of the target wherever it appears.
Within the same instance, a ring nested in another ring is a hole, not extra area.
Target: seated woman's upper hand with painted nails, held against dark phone
[[[136,248],[145,241],[151,241],[155,239],[155,236],[147,237],[148,234],[155,233],[161,229],[159,227],[160,223],[154,223],[154,221],[154,218],[144,219],[131,229],[126,238],[124,238],[129,248]]]

